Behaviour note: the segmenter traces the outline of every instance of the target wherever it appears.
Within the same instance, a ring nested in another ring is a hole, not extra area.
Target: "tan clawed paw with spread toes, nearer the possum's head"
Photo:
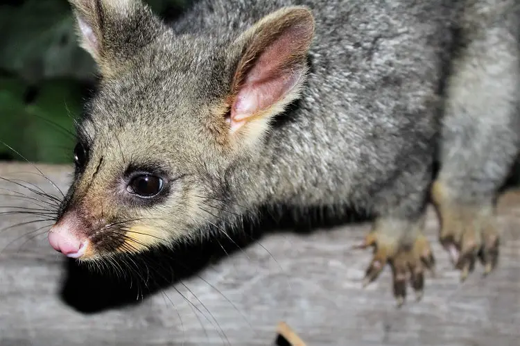
[[[422,297],[424,289],[424,273],[435,266],[435,259],[428,240],[419,230],[401,232],[403,236],[390,236],[397,232],[384,232],[375,227],[367,234],[363,244],[357,248],[374,249],[372,261],[368,266],[363,286],[373,282],[383,271],[386,263],[392,268],[393,290],[397,305],[404,304],[406,286],[410,284],[417,300]]]

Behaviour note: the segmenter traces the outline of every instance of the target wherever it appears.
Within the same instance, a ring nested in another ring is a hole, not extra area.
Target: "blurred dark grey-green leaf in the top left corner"
[[[26,80],[92,78],[94,62],[76,43],[66,0],[26,0],[0,6],[0,67]]]

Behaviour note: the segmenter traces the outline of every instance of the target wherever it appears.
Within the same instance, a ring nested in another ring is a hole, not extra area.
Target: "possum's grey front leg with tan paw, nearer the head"
[[[424,168],[429,167],[427,162],[426,159]],[[393,193],[395,197],[379,204],[379,216],[363,243],[358,246],[373,248],[372,261],[366,269],[363,285],[379,277],[388,264],[392,269],[393,291],[398,306],[404,303],[407,284],[412,286],[417,300],[422,297],[424,274],[433,270],[435,263],[430,244],[423,234],[429,186],[427,176],[416,172],[413,181],[403,190],[400,184],[406,179],[406,175],[403,175],[385,189],[383,195]]]

